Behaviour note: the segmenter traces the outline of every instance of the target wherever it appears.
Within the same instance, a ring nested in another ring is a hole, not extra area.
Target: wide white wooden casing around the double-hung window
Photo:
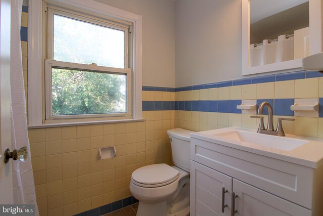
[[[97,17],[111,18],[129,22],[132,24],[132,49],[129,63],[132,65],[131,79],[131,116],[129,118],[120,117],[115,120],[104,118],[75,119],[74,122],[66,121],[45,122],[44,112],[44,47],[41,43],[44,32],[43,25],[43,4],[55,4],[67,9],[86,11],[90,15]],[[118,8],[114,8],[92,0],[33,0],[29,1],[28,19],[28,127],[46,127],[60,125],[76,125],[89,123],[119,122],[142,120],[142,96],[141,96],[141,50],[142,50],[142,18],[140,15],[133,14]]]

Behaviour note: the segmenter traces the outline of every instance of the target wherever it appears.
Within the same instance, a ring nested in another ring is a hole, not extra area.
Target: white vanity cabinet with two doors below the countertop
[[[322,170],[191,134],[190,214],[323,215]]]

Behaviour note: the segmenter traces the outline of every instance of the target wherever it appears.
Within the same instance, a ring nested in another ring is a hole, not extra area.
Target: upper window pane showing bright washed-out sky
[[[125,32],[54,15],[53,59],[125,68]]]

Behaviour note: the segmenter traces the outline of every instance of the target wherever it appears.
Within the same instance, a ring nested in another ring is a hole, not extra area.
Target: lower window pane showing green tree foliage
[[[125,74],[52,68],[52,115],[125,113]]]

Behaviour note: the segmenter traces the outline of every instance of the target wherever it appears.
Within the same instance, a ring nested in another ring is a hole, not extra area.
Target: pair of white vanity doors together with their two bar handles
[[[192,160],[191,181],[191,215],[311,215],[307,208]]]

